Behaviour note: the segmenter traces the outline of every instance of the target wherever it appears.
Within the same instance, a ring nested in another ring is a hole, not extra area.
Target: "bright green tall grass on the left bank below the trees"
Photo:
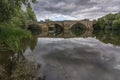
[[[18,52],[23,48],[23,40],[31,37],[31,32],[20,27],[0,26],[0,50]]]

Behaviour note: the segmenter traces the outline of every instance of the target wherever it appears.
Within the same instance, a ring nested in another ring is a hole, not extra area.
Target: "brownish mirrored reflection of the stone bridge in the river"
[[[92,31],[91,30],[77,30],[75,33],[72,30],[63,31],[59,35],[56,35],[54,31],[48,33],[43,32],[38,35],[38,37],[53,37],[53,38],[72,38],[72,37],[91,37]]]

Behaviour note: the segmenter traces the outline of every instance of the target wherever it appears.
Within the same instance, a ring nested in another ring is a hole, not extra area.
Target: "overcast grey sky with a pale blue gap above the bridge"
[[[38,20],[97,19],[120,11],[120,0],[38,0],[33,5]]]

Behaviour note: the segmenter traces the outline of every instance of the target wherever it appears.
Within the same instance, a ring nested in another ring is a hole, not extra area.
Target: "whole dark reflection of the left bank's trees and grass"
[[[18,53],[10,51],[7,46],[0,47],[0,80],[42,80],[41,76],[37,76],[40,64],[29,61],[24,56],[27,48],[35,48],[37,39],[32,38],[27,42],[29,44],[24,44],[25,42],[21,43],[24,47]]]

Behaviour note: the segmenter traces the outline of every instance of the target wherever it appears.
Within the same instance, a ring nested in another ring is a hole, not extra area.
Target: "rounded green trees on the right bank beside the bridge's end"
[[[94,25],[94,29],[98,30],[120,30],[120,12],[116,14],[107,14],[99,18]]]

